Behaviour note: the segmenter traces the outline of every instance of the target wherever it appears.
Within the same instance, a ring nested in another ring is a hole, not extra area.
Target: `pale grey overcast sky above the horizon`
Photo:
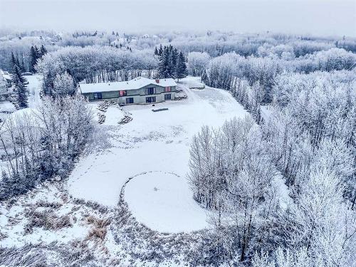
[[[356,36],[356,0],[0,0],[0,26]]]

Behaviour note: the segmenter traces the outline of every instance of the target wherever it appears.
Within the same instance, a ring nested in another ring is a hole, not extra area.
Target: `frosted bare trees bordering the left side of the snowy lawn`
[[[46,179],[65,178],[93,129],[80,95],[43,98],[35,111],[14,113],[0,126],[0,200],[26,193]]]

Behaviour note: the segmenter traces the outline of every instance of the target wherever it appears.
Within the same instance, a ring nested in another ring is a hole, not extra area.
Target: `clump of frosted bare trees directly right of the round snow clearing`
[[[221,246],[229,260],[244,261],[276,209],[271,184],[276,170],[261,132],[251,117],[226,121],[219,130],[203,127],[193,137],[190,155],[194,199],[218,211],[217,232],[234,229],[225,236],[230,243],[221,240]]]

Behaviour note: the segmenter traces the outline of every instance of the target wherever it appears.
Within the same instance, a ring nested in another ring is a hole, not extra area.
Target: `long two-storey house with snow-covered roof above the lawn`
[[[125,82],[83,83],[79,85],[89,101],[111,100],[120,105],[158,103],[174,100],[177,83],[172,78],[152,80],[137,77]]]

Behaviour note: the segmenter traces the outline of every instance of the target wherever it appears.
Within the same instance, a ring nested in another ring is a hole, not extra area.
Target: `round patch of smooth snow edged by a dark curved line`
[[[125,201],[137,221],[152,230],[188,232],[207,226],[206,211],[194,201],[187,179],[169,172],[147,172],[130,179]]]

